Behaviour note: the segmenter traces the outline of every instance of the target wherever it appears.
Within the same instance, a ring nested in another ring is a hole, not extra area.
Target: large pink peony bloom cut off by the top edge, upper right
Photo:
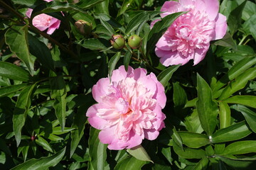
[[[206,56],[211,40],[223,38],[227,31],[226,17],[218,13],[218,0],[166,1],[161,8],[161,18],[180,11],[179,16],[156,43],[156,55],[165,66],[194,65]],[[154,23],[153,23],[154,24]]]

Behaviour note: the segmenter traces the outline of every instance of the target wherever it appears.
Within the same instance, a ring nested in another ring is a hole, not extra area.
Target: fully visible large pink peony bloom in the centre
[[[110,78],[102,78],[92,87],[97,104],[87,110],[90,125],[100,131],[100,141],[109,149],[132,148],[144,137],[155,140],[166,118],[164,86],[145,69],[124,66]]]

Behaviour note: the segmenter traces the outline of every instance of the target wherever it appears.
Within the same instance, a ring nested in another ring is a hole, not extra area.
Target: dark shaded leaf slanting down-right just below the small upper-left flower
[[[48,47],[33,35],[28,35],[28,42],[31,54],[34,55],[44,67],[54,71],[53,58]]]

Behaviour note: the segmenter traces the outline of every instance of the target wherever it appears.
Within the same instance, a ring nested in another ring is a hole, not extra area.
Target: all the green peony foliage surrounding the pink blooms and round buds
[[[159,28],[164,1],[0,1],[1,169],[255,169],[256,4],[220,1],[228,33],[196,66],[166,68],[154,45],[181,13]],[[48,13],[61,21],[53,35],[24,18]],[[63,11],[63,14],[60,13]],[[92,23],[85,37],[79,19]],[[113,34],[136,33],[141,50],[111,48]],[[154,72],[166,88],[166,128],[154,141],[114,151],[85,117],[91,88],[124,64]],[[152,163],[154,162],[154,163]]]

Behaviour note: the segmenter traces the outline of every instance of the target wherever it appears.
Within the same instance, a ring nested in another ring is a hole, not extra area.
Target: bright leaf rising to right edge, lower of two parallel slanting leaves
[[[218,100],[224,100],[225,98],[228,98],[232,94],[234,94],[236,91],[239,91],[240,89],[245,88],[247,82],[250,79],[255,79],[256,77],[256,67],[247,69],[245,72],[240,74],[235,81],[232,81],[228,86],[225,87],[222,94],[218,98]]]

